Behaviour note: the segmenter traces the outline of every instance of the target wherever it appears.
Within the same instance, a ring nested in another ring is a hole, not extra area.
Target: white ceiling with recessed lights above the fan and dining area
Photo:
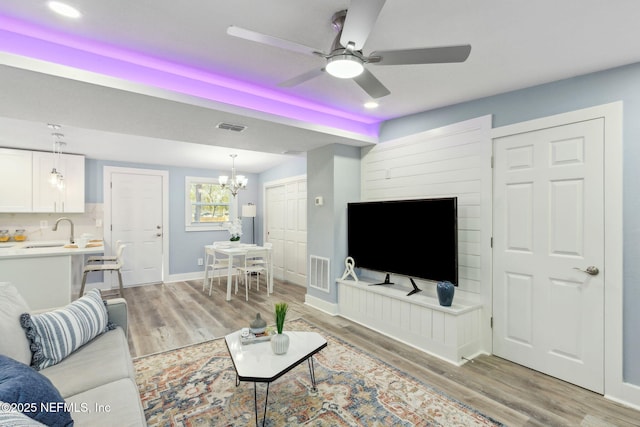
[[[251,83],[295,97],[349,121],[374,123],[471,99],[640,61],[637,0],[388,0],[363,49],[472,45],[464,63],[376,66],[390,89],[376,110],[350,80],[326,73],[292,88],[279,82],[323,66],[323,59],[226,34],[236,25],[328,51],[331,16],[347,0],[69,0],[82,18],[51,13],[45,0],[2,0],[0,37],[20,26],[71,36],[58,43],[99,42]],[[47,37],[46,35],[44,36]],[[0,40],[0,44],[2,41]],[[375,136],[310,119],[283,117],[219,101],[141,86],[100,73],[56,67],[66,58],[29,61],[0,50],[0,145],[50,149],[45,124],[60,123],[68,151],[90,157],[260,172],[330,143],[363,146]],[[337,113],[336,113],[337,111]],[[220,121],[247,125],[231,134]],[[375,124],[374,124],[375,127]],[[246,150],[246,151],[245,151]]]

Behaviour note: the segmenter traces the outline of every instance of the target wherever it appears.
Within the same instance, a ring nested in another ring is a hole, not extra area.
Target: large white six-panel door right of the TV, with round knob
[[[594,119],[494,140],[493,352],[599,393],[603,135]]]

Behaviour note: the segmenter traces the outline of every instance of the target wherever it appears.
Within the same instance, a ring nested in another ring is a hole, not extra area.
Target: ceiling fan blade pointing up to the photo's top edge
[[[351,0],[340,37],[342,46],[346,47],[347,44],[353,43],[355,50],[362,49],[385,1]]]

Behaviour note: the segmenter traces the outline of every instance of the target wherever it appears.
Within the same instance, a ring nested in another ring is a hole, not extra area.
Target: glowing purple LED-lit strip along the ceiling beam
[[[378,134],[378,119],[1,15],[0,50],[355,134]]]

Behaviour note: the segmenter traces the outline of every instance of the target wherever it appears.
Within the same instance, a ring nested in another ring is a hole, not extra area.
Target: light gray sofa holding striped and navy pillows
[[[24,307],[19,295],[11,295],[11,288],[0,283],[0,354],[25,363],[23,349],[29,341],[19,321]],[[126,300],[108,300],[107,313],[118,327],[39,372],[68,404],[75,426],[146,426],[127,343]]]

